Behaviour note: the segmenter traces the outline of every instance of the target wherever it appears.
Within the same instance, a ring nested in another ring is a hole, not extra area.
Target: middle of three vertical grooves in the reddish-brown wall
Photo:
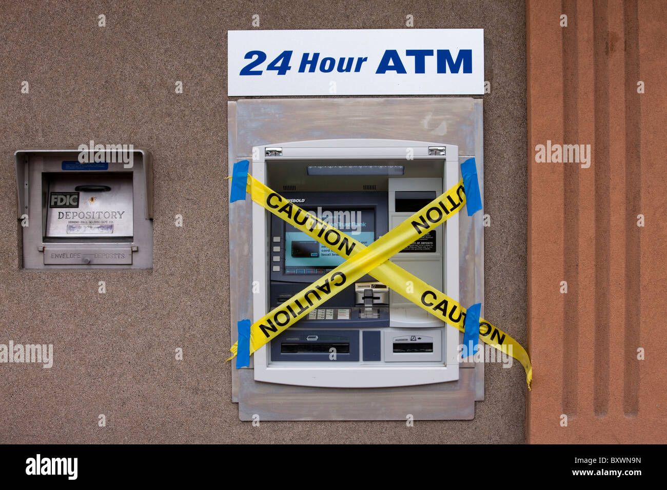
[[[610,331],[610,153],[609,153],[609,29],[607,1],[593,3],[593,73],[595,116],[595,338],[592,345],[593,410],[604,417],[609,406]]]

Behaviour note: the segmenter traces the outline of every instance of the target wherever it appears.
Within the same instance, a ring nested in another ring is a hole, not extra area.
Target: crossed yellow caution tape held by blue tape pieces
[[[458,213],[466,205],[466,189],[470,194],[467,203],[468,213],[472,214],[482,209],[474,159],[468,159],[462,164],[464,178],[458,184],[368,247],[317,216],[304,211],[248,175],[248,166],[247,160],[234,165],[233,175],[230,177],[232,186],[230,203],[245,199],[245,194],[249,193],[255,203],[348,260],[293,295],[279,307],[269,311],[252,325],[249,320],[239,321],[239,340],[229,349],[232,353],[229,359],[238,355],[237,367],[247,366],[249,356],[259,347],[277,337],[309,311],[319,307],[360,277],[370,274],[428,313],[463,331],[464,337],[470,337],[473,330],[474,335],[479,335],[484,343],[512,355],[524,366],[526,383],[530,389],[532,366],[528,353],[520,343],[488,321],[479,319],[478,308],[470,309],[466,321],[466,309],[458,301],[389,260],[422,235]],[[472,319],[479,320],[473,321],[474,327],[478,328],[470,328]]]

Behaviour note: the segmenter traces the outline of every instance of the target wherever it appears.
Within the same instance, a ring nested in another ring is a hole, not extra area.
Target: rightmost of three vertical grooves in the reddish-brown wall
[[[642,205],[640,94],[637,93],[639,75],[639,11],[637,0],[625,0],[625,127],[626,127],[626,201],[627,225],[625,235],[625,339],[623,413],[636,417],[639,409],[639,362],[637,347],[640,345],[640,230],[637,215]]]

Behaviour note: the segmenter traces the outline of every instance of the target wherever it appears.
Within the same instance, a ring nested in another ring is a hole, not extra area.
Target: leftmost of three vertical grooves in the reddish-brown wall
[[[557,143],[578,144],[578,32],[576,0],[563,0],[562,12],[568,16],[568,27],[563,29],[563,135],[564,141]],[[556,143],[556,142],[554,142]],[[563,303],[563,359],[576,356],[579,345],[579,202],[578,164],[564,164],[563,254],[564,281],[568,283],[568,294]],[[568,204],[569,203],[569,204]],[[576,415],[578,387],[578,364],[563,363],[563,412]]]

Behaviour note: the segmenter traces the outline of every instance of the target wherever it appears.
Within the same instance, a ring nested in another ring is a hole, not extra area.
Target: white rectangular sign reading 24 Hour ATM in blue
[[[484,29],[228,31],[227,95],[484,93]]]

